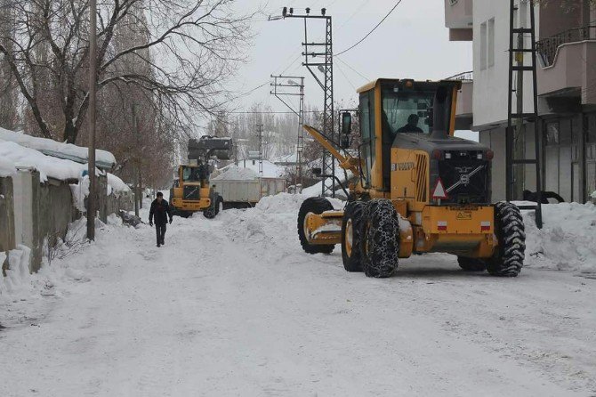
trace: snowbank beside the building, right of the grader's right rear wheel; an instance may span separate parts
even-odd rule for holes
[[[596,206],[544,204],[543,220],[538,230],[534,213],[524,213],[528,267],[596,273]]]

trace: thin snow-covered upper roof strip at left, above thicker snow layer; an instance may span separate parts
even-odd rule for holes
[[[15,142],[29,149],[39,150],[45,155],[75,161],[80,164],[88,162],[88,149],[71,143],[56,142],[51,139],[37,138],[23,133],[0,128],[0,142]],[[106,150],[95,150],[96,166],[110,169],[116,165],[116,158]]]

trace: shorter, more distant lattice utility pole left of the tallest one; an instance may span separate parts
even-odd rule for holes
[[[271,84],[273,91],[272,95],[275,95],[279,101],[286,105],[287,109],[290,109],[298,116],[298,142],[296,144],[296,173],[294,173],[294,193],[298,192],[298,183],[302,186],[302,152],[304,150],[304,131],[302,126],[304,125],[304,77],[292,77],[292,76],[271,76],[274,78],[274,82]],[[279,82],[282,80],[282,82]],[[286,80],[286,83],[283,83]],[[295,80],[300,80],[297,83]],[[290,88],[298,88],[298,93],[288,93],[286,90]],[[283,99],[284,96],[299,96],[299,108],[298,111],[294,109],[287,101]]]

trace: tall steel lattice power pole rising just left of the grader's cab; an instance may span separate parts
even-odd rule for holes
[[[336,142],[334,130],[334,64],[333,64],[333,32],[331,16],[326,15],[326,8],[321,9],[320,15],[310,14],[310,8],[306,8],[306,13],[299,15],[294,14],[294,8],[284,7],[281,17],[273,17],[270,20],[279,20],[286,18],[302,18],[304,20],[304,62],[302,66],[306,66],[312,77],[315,78],[318,85],[324,93],[323,104],[323,134],[332,142]],[[325,20],[325,41],[324,42],[309,42],[308,35],[308,20]],[[323,58],[323,61],[319,61]],[[318,77],[315,73],[316,68],[318,72],[323,74],[323,79]],[[328,151],[323,152],[323,174],[335,174],[335,161],[333,156]],[[334,178],[326,178],[323,180],[322,196],[335,197],[335,180]]]

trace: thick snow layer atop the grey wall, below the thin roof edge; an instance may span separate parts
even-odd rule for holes
[[[40,151],[25,148],[14,142],[0,141],[0,158],[3,158],[4,165],[12,163],[15,167],[35,168],[39,171],[41,182],[47,182],[48,178],[60,181],[78,179],[87,169],[84,164],[45,156]]]

